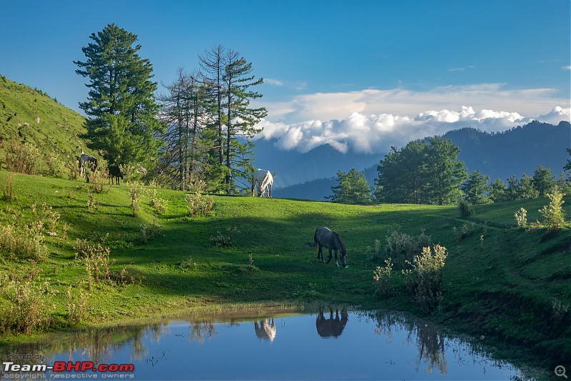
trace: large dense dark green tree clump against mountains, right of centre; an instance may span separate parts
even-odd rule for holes
[[[468,177],[460,150],[447,139],[435,136],[411,141],[380,161],[375,197],[389,203],[455,203],[460,185]]]

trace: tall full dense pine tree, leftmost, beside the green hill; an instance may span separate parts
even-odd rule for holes
[[[74,61],[76,73],[89,78],[88,99],[79,103],[88,116],[89,147],[109,163],[151,166],[162,144],[156,133],[163,130],[153,66],[138,56],[137,36],[115,24],[89,38],[93,42],[81,49],[86,61]]]

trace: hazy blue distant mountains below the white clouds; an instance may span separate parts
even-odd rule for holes
[[[533,121],[503,133],[487,133],[475,128],[462,128],[445,133],[460,148],[458,158],[469,172],[478,170],[490,181],[506,181],[512,175],[533,175],[537,166],[550,168],[559,175],[571,148],[571,124],[557,126]],[[272,141],[256,142],[256,166],[276,173],[273,195],[281,198],[324,200],[337,184],[337,171],[357,168],[373,186],[378,176],[377,165],[385,154],[364,155],[342,153],[325,144],[306,153],[279,151]]]

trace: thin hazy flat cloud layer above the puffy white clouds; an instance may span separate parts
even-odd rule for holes
[[[405,88],[365,89],[347,93],[313,93],[290,101],[264,103],[268,119],[283,123],[331,119],[342,120],[353,112],[363,115],[418,115],[427,110],[457,110],[470,105],[478,110],[510,110],[511,113],[540,115],[554,105],[568,104],[552,88],[505,89],[504,83],[471,86],[440,86],[425,91]],[[440,116],[443,117],[443,116]]]

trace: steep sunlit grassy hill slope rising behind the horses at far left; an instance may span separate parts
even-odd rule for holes
[[[43,153],[62,157],[86,151],[85,118],[41,90],[0,76],[0,140],[34,143]],[[0,145],[1,146],[1,145]]]

